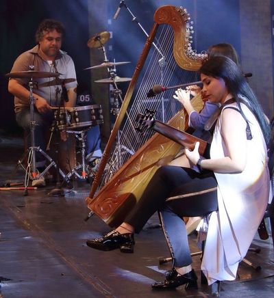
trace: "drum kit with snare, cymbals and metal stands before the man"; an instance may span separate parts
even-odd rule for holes
[[[97,33],[94,37],[88,40],[88,47],[90,48],[99,48],[103,50],[104,54],[104,62],[97,66],[91,66],[86,68],[85,70],[93,70],[98,68],[108,68],[108,72],[110,74],[110,78],[107,79],[100,79],[95,81],[96,83],[112,83],[114,86],[113,94],[116,94],[116,106],[118,106],[119,99],[122,102],[121,98],[121,90],[118,89],[116,83],[123,83],[127,81],[131,81],[131,78],[122,78],[116,75],[115,66],[120,66],[123,64],[129,64],[130,62],[109,62],[106,54],[105,54],[105,47],[103,44],[107,42],[110,38],[110,33],[108,31],[103,31],[101,33]],[[114,67],[114,69],[112,68]],[[34,66],[29,66],[30,70],[20,71],[20,72],[10,72],[5,74],[5,77],[9,77],[12,79],[29,79],[28,87],[29,87],[29,105],[30,105],[30,136],[31,136],[31,144],[25,153],[25,157],[18,161],[18,164],[23,167],[25,170],[25,191],[24,195],[27,195],[27,189],[29,185],[29,180],[38,180],[43,177],[51,167],[55,167],[58,172],[58,176],[61,175],[64,181],[69,183],[71,176],[76,176],[79,179],[86,179],[86,162],[85,162],[85,133],[88,131],[88,128],[91,126],[95,126],[97,124],[103,123],[103,112],[101,109],[101,105],[88,105],[84,107],[52,107],[55,109],[54,117],[55,120],[53,121],[51,127],[51,135],[53,130],[58,128],[58,131],[66,131],[67,133],[75,134],[75,137],[81,141],[81,151],[82,151],[82,164],[76,165],[69,174],[64,174],[64,172],[58,166],[58,162],[55,163],[49,155],[44,152],[40,147],[35,146],[34,140],[34,130],[37,123],[34,121],[34,94],[33,89],[34,86],[36,87],[48,87],[49,85],[62,85],[64,84],[64,80],[59,78],[60,73],[58,72],[42,72],[33,70]],[[36,83],[34,79],[42,79],[42,78],[55,78],[53,81],[47,83]],[[58,83],[60,81],[60,83]],[[75,81],[75,79],[65,79],[65,83],[70,83],[71,81]],[[116,108],[117,110],[117,108]],[[116,111],[117,113],[117,111]],[[51,139],[51,138],[50,138]],[[50,143],[50,141],[49,141]],[[49,147],[49,144],[48,146]],[[49,161],[49,165],[45,168],[45,170],[39,173],[36,170],[36,157],[35,152],[39,152],[40,154],[45,157]],[[23,160],[27,157],[27,165],[24,166]],[[82,171],[82,174],[79,175],[77,172],[79,170]],[[95,174],[95,173],[94,173]]]

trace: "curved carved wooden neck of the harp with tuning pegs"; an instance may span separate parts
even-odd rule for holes
[[[173,28],[173,55],[178,66],[185,70],[199,70],[208,55],[204,51],[196,53],[192,49],[192,23],[186,8],[164,5],[156,10],[154,21],[159,25],[168,24]]]

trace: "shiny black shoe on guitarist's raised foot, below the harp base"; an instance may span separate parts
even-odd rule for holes
[[[134,234],[120,234],[113,230],[105,236],[97,239],[90,239],[86,241],[89,247],[109,251],[120,248],[121,252],[132,253],[134,252]]]

